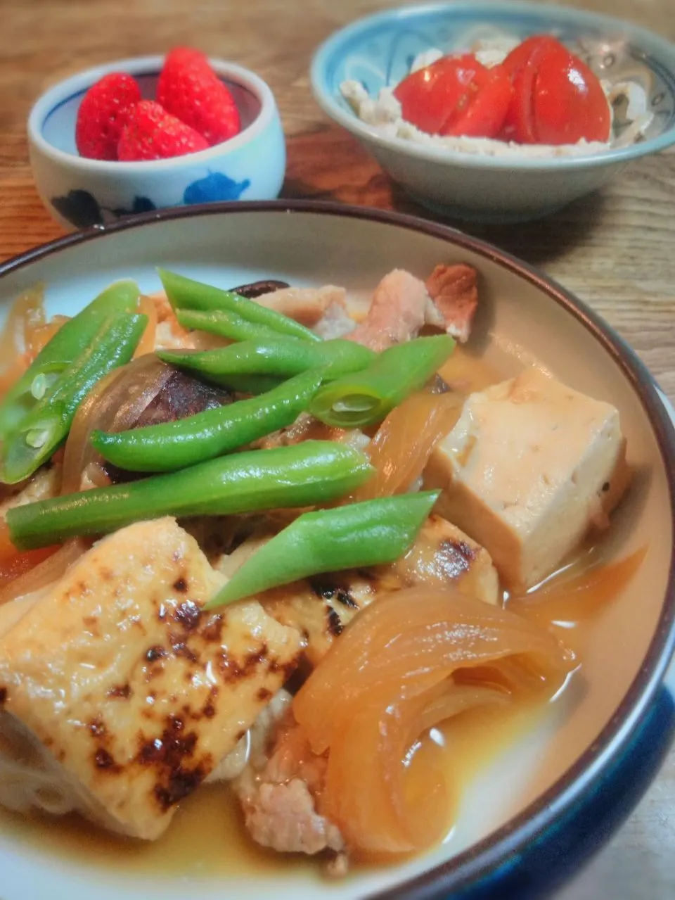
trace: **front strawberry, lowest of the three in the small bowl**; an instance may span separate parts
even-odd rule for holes
[[[139,159],[182,157],[205,150],[209,144],[200,134],[154,100],[137,103],[122,130],[117,157],[121,162]]]

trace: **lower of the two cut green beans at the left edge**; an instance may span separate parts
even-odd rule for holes
[[[67,437],[75,411],[93,385],[128,363],[147,327],[147,316],[105,320],[73,365],[58,375],[46,394],[4,441],[2,481],[16,484],[35,472]]]

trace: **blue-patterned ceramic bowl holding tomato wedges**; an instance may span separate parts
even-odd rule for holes
[[[475,40],[552,33],[573,46],[598,76],[635,80],[653,121],[644,139],[576,157],[483,156],[387,137],[352,112],[345,80],[373,98],[410,70],[423,50],[467,49]],[[539,3],[472,0],[410,6],[369,16],[337,31],[317,50],[311,84],[318,103],[351,131],[408,193],[433,211],[466,220],[517,221],[553,212],[600,188],[631,160],[675,143],[675,46],[607,16]]]

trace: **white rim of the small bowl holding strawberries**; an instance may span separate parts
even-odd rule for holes
[[[33,103],[31,112],[28,115],[27,129],[31,148],[38,150],[58,165],[91,174],[120,175],[120,172],[123,172],[127,175],[140,175],[156,171],[165,172],[169,169],[209,163],[209,160],[223,157],[238,148],[244,147],[245,144],[259,137],[277,114],[277,103],[274,99],[274,94],[271,92],[270,85],[263,81],[261,76],[237,63],[228,62],[226,59],[209,57],[211,67],[219,76],[223,76],[228,81],[244,87],[260,103],[260,110],[253,121],[244,130],[235,134],[234,138],[214,144],[213,147],[200,150],[198,153],[188,153],[182,157],[122,162],[120,160],[89,159],[75,153],[67,153],[66,150],[61,150],[51,144],[42,134],[42,128],[52,112],[63,103],[72,100],[73,97],[84,94],[84,91],[102,76],[110,75],[111,72],[125,72],[133,76],[158,75],[164,63],[164,58],[164,54],[158,54],[155,56],[116,59],[112,62],[103,63],[101,66],[84,69],[82,72],[68,76],[51,85]]]

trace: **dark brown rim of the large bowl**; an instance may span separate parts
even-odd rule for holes
[[[653,437],[661,455],[668,484],[671,518],[675,527],[675,426],[659,396],[656,383],[642,360],[626,341],[602,317],[573,293],[555,282],[535,266],[492,244],[466,235],[447,225],[419,219],[399,212],[375,210],[367,207],[324,201],[238,201],[201,203],[190,207],[157,210],[142,213],[129,219],[105,226],[57,238],[26,251],[0,264],[0,284],[6,275],[20,271],[70,247],[77,247],[92,240],[105,238],[119,231],[142,229],[153,223],[171,220],[189,220],[209,216],[235,215],[238,213],[277,213],[280,215],[321,214],[328,217],[369,220],[379,224],[413,230],[440,238],[454,247],[474,252],[511,274],[534,285],[564,311],[572,315],[596,339],[608,354],[635,392],[645,415],[650,421]],[[598,785],[611,767],[617,754],[625,750],[635,727],[642,721],[660,688],[671,657],[675,653],[675,545],[671,551],[668,579],[664,591],[662,609],[654,629],[652,640],[644,655],[644,661],[635,679],[619,702],[613,715],[603,725],[600,734],[577,761],[555,783],[539,795],[519,815],[513,816],[501,827],[466,851],[440,862],[413,878],[405,878],[394,887],[371,894],[370,900],[395,900],[400,896],[410,900],[431,900],[448,896],[449,890],[475,885],[500,869],[508,860],[525,851],[534,837],[569,811],[579,797]],[[403,893],[402,893],[403,892]]]

